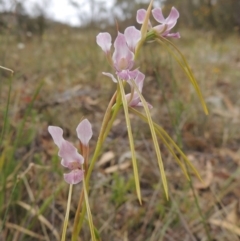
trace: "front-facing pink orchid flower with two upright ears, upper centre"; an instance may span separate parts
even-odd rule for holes
[[[118,32],[114,41],[114,52],[111,57],[111,35],[109,33],[99,33],[97,35],[97,44],[105,52],[120,79],[128,80],[131,78],[135,47],[140,39],[141,32],[133,26],[126,28],[124,34]],[[114,82],[117,82],[117,79],[111,73],[103,72],[103,74],[111,77]]]

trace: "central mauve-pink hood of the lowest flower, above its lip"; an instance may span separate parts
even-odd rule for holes
[[[69,165],[71,165],[70,163],[72,162],[84,163],[84,158],[77,152],[77,148],[66,140],[62,142],[58,155],[62,158],[61,164],[67,168],[70,168]]]

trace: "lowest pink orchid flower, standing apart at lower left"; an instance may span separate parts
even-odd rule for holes
[[[80,142],[87,146],[92,137],[92,126],[87,119],[81,121],[76,129]],[[58,146],[58,156],[62,158],[61,165],[70,169],[69,173],[64,174],[64,180],[69,184],[77,184],[82,181],[84,171],[82,164],[84,158],[77,151],[71,142],[63,138],[63,130],[58,126],[49,126],[48,132],[53,138],[54,143]]]

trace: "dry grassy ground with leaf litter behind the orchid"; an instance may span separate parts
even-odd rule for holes
[[[239,37],[219,39],[214,33],[188,31],[181,35],[175,43],[199,81],[209,116],[163,48],[145,46],[139,66],[147,76],[144,96],[154,106],[154,120],[182,146],[204,184],[193,178],[191,189],[162,147],[170,186],[170,201],[166,201],[149,129],[132,116],[143,195],[140,206],[124,116],[119,115],[103,149],[110,156],[97,165],[91,181],[90,204],[102,240],[239,240]],[[42,41],[25,41],[22,49],[14,36],[0,36],[1,65],[15,71],[0,155],[4,174],[0,179],[1,220],[10,201],[0,240],[58,240],[61,234],[68,186],[47,126],[61,126],[66,138],[75,141],[75,127],[85,116],[93,124],[94,149],[105,107],[115,90],[115,84],[101,74],[109,67],[95,36],[91,31],[63,29],[47,32]],[[4,113],[9,74],[0,71]],[[16,175],[21,178],[15,185]],[[81,185],[74,187],[69,233],[80,191]],[[79,240],[89,240],[89,235],[86,225]]]

